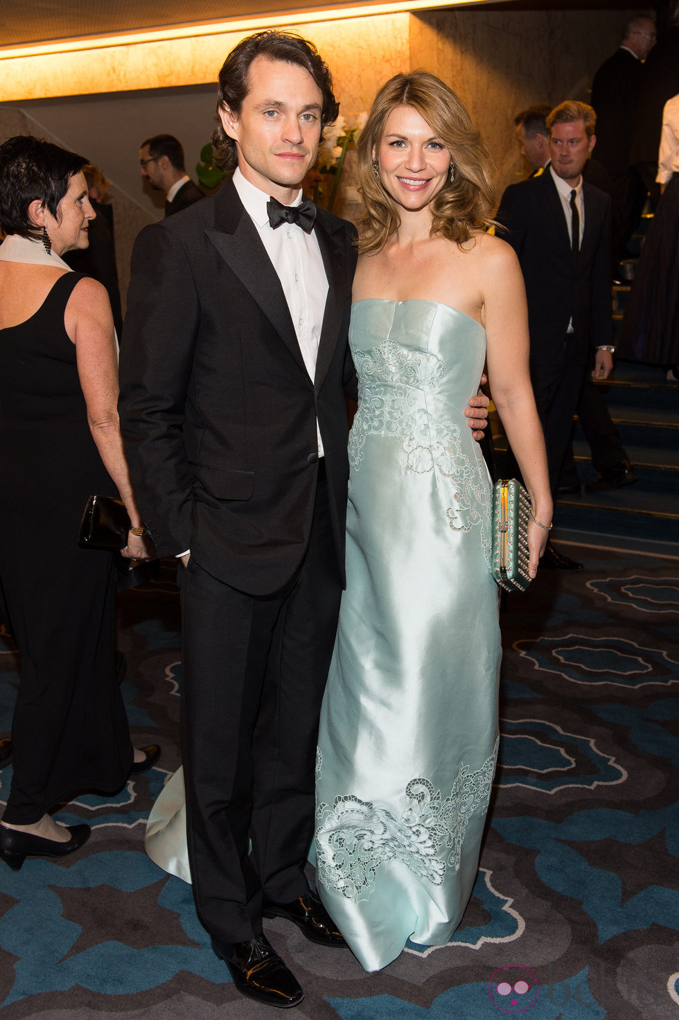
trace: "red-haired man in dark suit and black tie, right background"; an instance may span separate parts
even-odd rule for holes
[[[557,106],[547,117],[549,168],[510,185],[498,210],[526,284],[530,372],[553,496],[591,348],[595,378],[607,378],[613,367],[611,200],[582,181],[595,144],[595,119],[585,103]],[[541,562],[561,569],[581,566],[551,545]]]

